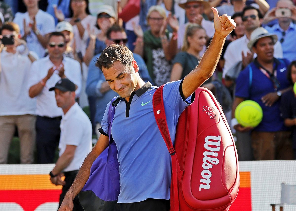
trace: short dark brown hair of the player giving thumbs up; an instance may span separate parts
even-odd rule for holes
[[[96,67],[109,69],[114,66],[114,62],[119,61],[126,66],[133,65],[133,52],[125,45],[110,45],[105,48],[97,59]]]

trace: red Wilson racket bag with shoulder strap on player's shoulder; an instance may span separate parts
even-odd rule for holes
[[[153,110],[172,158],[170,210],[228,210],[238,193],[239,166],[222,107],[209,90],[198,88],[178,119],[173,147],[162,89],[153,96]]]

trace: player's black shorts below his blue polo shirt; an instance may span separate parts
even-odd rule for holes
[[[169,211],[170,200],[146,199],[142,202],[117,203],[114,211]]]

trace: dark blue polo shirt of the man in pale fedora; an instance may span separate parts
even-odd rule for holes
[[[274,59],[274,67],[276,67],[276,78],[280,83],[278,91],[285,89],[290,86],[287,79],[287,66],[289,62],[287,59]],[[280,117],[280,100],[276,101],[271,107],[266,106],[261,97],[264,95],[275,92],[274,83],[271,79],[264,75],[256,61],[250,63],[252,70],[252,82],[250,86],[250,69],[247,66],[236,80],[235,96],[244,99],[254,100],[257,102],[263,110],[262,122],[254,128],[254,131],[265,131],[265,132],[276,132],[286,131],[287,128],[284,126],[284,121]]]

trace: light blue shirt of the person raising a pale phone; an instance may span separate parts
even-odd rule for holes
[[[283,57],[288,59],[290,62],[296,60],[296,25],[291,22],[286,31],[282,30],[278,23],[272,27],[266,26],[265,28],[269,33],[276,34],[279,41],[283,41],[281,43],[284,55]]]

